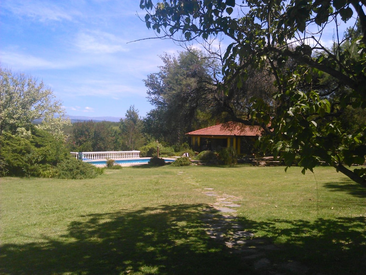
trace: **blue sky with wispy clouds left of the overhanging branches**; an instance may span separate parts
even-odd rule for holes
[[[143,79],[159,55],[183,49],[154,37],[138,0],[1,0],[0,65],[43,80],[68,115],[124,117],[153,108]]]

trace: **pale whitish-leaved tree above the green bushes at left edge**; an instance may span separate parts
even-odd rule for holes
[[[40,120],[38,128],[64,141],[63,127],[70,124],[62,103],[42,81],[0,67],[0,135],[4,130],[30,136],[25,127]]]

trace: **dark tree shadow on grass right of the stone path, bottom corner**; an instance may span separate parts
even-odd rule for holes
[[[279,247],[266,253],[277,268],[297,261],[307,265],[307,274],[366,274],[366,217],[242,223],[265,231]]]

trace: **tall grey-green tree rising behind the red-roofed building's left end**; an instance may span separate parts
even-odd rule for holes
[[[205,115],[217,99],[217,60],[198,49],[162,55],[164,65],[144,80],[148,100],[155,109],[144,119],[144,131],[160,141],[180,144],[185,133],[208,126]]]

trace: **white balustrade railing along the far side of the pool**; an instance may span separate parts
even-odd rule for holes
[[[82,159],[126,159],[126,158],[139,158],[140,151],[105,151],[105,152],[70,152],[72,157],[79,159],[79,153],[81,153]]]

